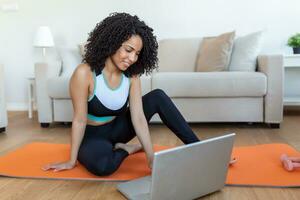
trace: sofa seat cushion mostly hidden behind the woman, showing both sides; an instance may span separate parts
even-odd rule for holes
[[[140,77],[142,84],[142,95],[151,91],[151,77],[142,75]],[[70,77],[55,77],[47,80],[48,95],[54,99],[69,99],[69,81]]]

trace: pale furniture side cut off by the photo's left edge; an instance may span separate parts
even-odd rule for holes
[[[7,112],[4,91],[4,67],[0,64],[0,133],[4,132],[7,126]]]

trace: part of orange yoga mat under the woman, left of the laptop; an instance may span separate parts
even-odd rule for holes
[[[155,146],[155,150],[166,148]],[[110,176],[95,176],[80,163],[71,170],[60,172],[41,169],[45,164],[68,160],[69,152],[70,145],[68,144],[31,143],[0,157],[0,175],[23,178],[125,181],[148,176],[151,173],[147,167],[144,152],[138,152],[127,157],[120,168]]]

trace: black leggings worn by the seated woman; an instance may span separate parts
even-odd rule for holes
[[[147,122],[158,113],[161,120],[185,144],[199,141],[182,117],[174,103],[160,89],[153,90],[142,98]],[[113,121],[100,125],[87,125],[78,152],[78,161],[91,173],[98,176],[115,172],[128,156],[123,149],[114,150],[116,143],[127,143],[136,136],[129,109]]]

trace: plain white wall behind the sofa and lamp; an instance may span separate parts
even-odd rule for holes
[[[41,59],[32,47],[38,26],[51,28],[56,46],[76,46],[109,13],[137,14],[158,39],[217,35],[236,30],[244,35],[265,31],[263,52],[290,53],[287,38],[300,32],[299,0],[0,0],[16,2],[16,12],[0,11],[0,62],[5,65],[9,110],[27,109],[26,77]],[[55,49],[48,56],[56,56]]]

